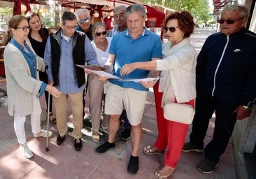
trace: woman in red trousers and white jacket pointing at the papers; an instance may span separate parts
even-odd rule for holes
[[[168,42],[162,46],[163,59],[125,64],[120,72],[122,76],[125,76],[135,69],[145,69],[162,71],[161,75],[165,76],[156,84],[141,82],[145,87],[154,85],[158,128],[155,145],[145,147],[143,152],[148,155],[164,155],[166,152],[164,166],[155,172],[157,178],[169,178],[175,171],[189,126],[166,120],[163,110],[164,102],[168,100],[194,107],[197,52],[190,44],[189,39],[190,34],[194,31],[194,25],[193,17],[189,12],[171,13],[164,21],[164,33]],[[168,85],[171,88],[171,93],[167,95],[164,89]],[[168,98],[166,99],[164,96],[168,96]]]

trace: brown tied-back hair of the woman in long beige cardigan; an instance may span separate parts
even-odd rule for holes
[[[10,18],[8,22],[8,30],[3,34],[3,43],[5,45],[7,45],[7,43],[10,41],[10,38],[13,36],[11,29],[17,29],[22,20],[27,20],[27,17],[24,17],[23,15],[14,15]]]

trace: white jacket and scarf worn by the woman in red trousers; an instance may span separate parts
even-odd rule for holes
[[[171,101],[176,97],[178,103],[190,101],[196,97],[195,89],[195,67],[197,64],[197,51],[190,44],[190,39],[185,38],[172,48],[171,42],[162,46],[163,59],[157,60],[157,71],[162,71],[159,92],[164,92],[166,85],[171,85],[173,95],[169,96]],[[168,76],[171,84],[168,83]]]

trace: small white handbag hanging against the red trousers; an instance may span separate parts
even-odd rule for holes
[[[167,101],[164,104],[164,118],[183,124],[191,124],[194,118],[194,108],[185,103]]]

